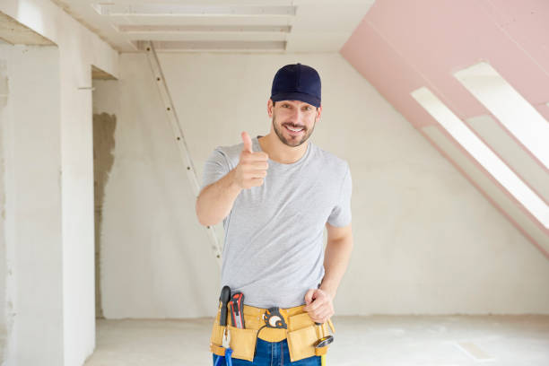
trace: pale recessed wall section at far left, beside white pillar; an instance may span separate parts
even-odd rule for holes
[[[4,362],[62,365],[59,51],[2,46],[0,54],[8,75],[0,126],[7,262]]]

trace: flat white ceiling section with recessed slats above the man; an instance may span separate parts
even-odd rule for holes
[[[54,0],[120,52],[336,52],[375,0]]]

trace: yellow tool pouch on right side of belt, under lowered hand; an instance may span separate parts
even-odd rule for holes
[[[327,335],[327,323],[316,326],[308,313],[301,313],[288,318],[288,349],[290,361],[296,362],[312,356],[327,353],[327,346],[315,348],[314,344]]]

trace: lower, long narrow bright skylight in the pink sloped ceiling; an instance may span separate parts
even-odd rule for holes
[[[545,228],[549,228],[549,206],[527,187],[526,184],[501,159],[492,152],[457,116],[429,89],[423,87],[411,93],[427,112],[443,126],[476,161],[478,161],[501,186],[505,187],[518,202],[526,207]]]

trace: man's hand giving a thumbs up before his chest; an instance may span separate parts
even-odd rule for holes
[[[235,179],[239,187],[248,189],[263,185],[269,165],[269,156],[263,152],[254,153],[248,132],[242,132],[244,146],[240,153],[239,165],[235,168]]]

